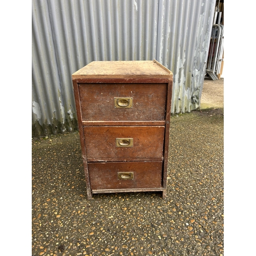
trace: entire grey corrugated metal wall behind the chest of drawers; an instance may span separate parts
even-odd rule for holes
[[[157,59],[172,113],[200,105],[216,1],[32,0],[32,135],[77,128],[71,75],[94,60]]]

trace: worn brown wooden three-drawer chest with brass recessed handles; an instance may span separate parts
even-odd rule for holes
[[[173,74],[158,61],[93,61],[72,75],[88,199],[166,197]]]

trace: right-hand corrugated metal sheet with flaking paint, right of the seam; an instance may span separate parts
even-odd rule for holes
[[[200,106],[215,3],[160,0],[157,60],[174,73],[172,113]]]

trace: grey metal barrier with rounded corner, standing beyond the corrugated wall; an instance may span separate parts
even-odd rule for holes
[[[207,58],[206,74],[212,79],[217,80],[223,61],[223,41],[224,26],[220,24],[212,25],[210,46]]]

